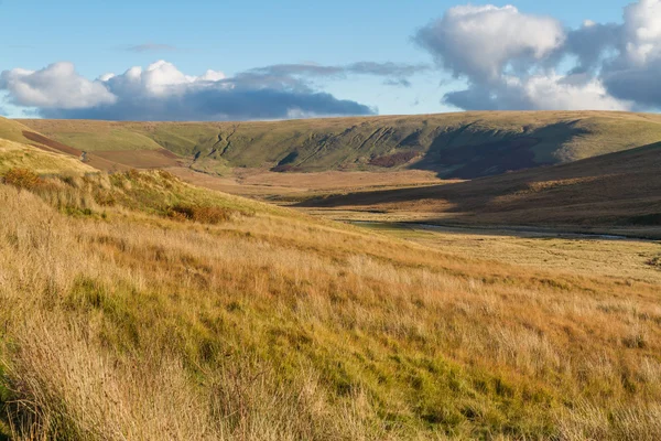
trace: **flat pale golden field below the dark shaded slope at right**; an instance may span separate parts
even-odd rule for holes
[[[661,256],[661,243],[657,240],[405,223],[362,222],[357,225],[457,257],[492,259],[565,275],[627,278],[661,284],[657,261]]]

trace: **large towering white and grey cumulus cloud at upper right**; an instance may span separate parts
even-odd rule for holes
[[[629,4],[621,23],[577,29],[511,6],[462,6],[414,39],[465,80],[444,97],[463,109],[661,108],[661,0]]]

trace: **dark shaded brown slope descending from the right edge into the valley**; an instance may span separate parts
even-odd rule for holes
[[[302,203],[437,213],[475,224],[661,225],[661,143],[456,184],[335,195]]]

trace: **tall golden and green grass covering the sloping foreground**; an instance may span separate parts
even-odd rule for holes
[[[657,284],[465,259],[158,172],[0,185],[0,207],[14,439],[661,437]]]

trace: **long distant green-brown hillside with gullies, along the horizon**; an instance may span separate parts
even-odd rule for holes
[[[661,117],[596,111],[463,112],[274,122],[105,122],[24,120],[87,150],[164,147],[194,168],[299,171],[383,170],[383,164],[475,178],[568,162],[661,138]],[[381,165],[375,165],[381,164]]]

